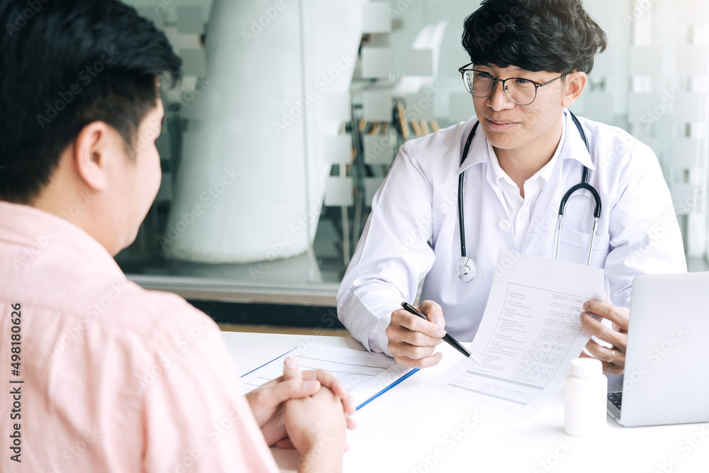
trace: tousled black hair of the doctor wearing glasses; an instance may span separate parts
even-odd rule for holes
[[[476,65],[588,74],[607,38],[581,0],[484,0],[465,18],[462,45]]]

